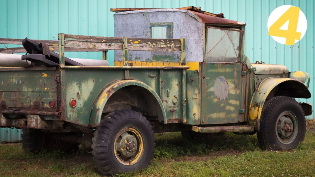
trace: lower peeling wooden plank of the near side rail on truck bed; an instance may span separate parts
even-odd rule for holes
[[[65,48],[100,49],[100,50],[123,50],[120,43],[90,43],[78,41],[65,41]],[[156,44],[129,44],[128,50],[136,51],[180,51],[180,45],[156,45]],[[66,50],[65,50],[66,51]]]

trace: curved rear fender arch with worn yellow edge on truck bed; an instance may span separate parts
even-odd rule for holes
[[[102,111],[104,109],[104,106],[107,102],[107,100],[112,96],[112,94],[114,94],[117,90],[119,90],[120,88],[126,87],[126,86],[140,86],[142,88],[145,88],[146,90],[148,90],[149,92],[151,92],[151,94],[156,98],[157,102],[160,105],[160,108],[162,110],[163,113],[163,121],[164,123],[166,123],[166,113],[164,110],[164,106],[163,103],[160,99],[160,97],[157,95],[157,93],[147,84],[137,81],[137,80],[119,80],[116,81],[106,87],[104,87],[101,91],[100,94],[98,94],[97,98],[95,99],[93,106],[92,106],[92,110],[91,110],[91,115],[90,115],[90,127],[96,127],[100,124],[100,120],[101,120],[101,116],[102,116]]]

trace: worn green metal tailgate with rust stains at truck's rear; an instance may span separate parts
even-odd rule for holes
[[[57,72],[55,67],[0,68],[0,110],[55,111]]]

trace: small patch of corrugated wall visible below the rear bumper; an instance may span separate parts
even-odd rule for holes
[[[0,143],[21,141],[21,129],[0,128]]]

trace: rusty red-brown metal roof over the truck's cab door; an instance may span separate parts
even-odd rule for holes
[[[214,17],[211,15],[195,12],[188,10],[188,14],[192,17],[196,18],[200,23],[209,23],[209,24],[230,24],[230,25],[240,25],[245,26],[246,23],[234,21],[234,20],[228,20],[220,17]]]

